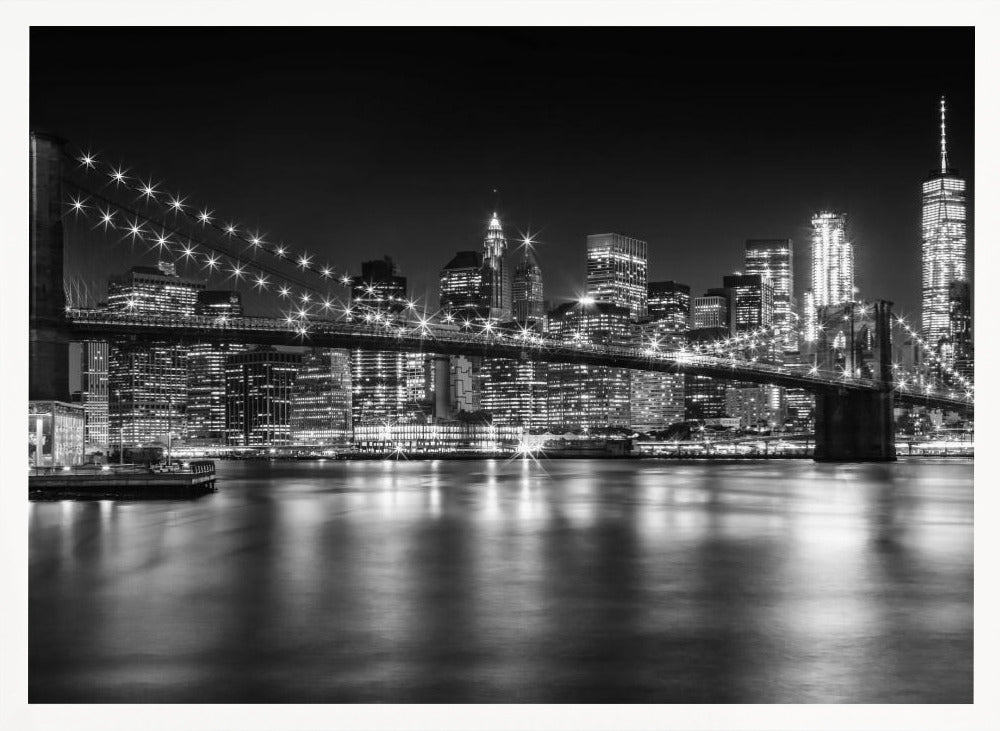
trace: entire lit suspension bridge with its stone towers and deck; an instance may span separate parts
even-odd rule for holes
[[[912,393],[894,380],[891,363],[890,333],[892,316],[889,303],[879,302],[864,332],[868,342],[860,346],[859,339],[843,354],[831,345],[818,353],[816,366],[809,371],[795,371],[781,366],[751,362],[733,356],[719,357],[701,352],[660,351],[655,348],[625,345],[597,345],[586,342],[554,340],[533,332],[510,332],[490,328],[471,332],[432,318],[416,322],[398,318],[376,317],[376,322],[352,320],[345,315],[340,320],[324,319],[317,313],[308,317],[289,316],[286,319],[239,317],[230,319],[208,317],[164,318],[131,315],[127,312],[107,312],[67,308],[63,292],[64,234],[62,216],[62,185],[65,177],[62,144],[50,138],[32,137],[31,163],[31,364],[30,394],[32,399],[68,400],[67,348],[70,340],[156,340],[170,342],[241,342],[268,345],[310,345],[367,350],[404,350],[435,354],[465,354],[490,357],[541,360],[557,363],[584,363],[637,370],[659,371],[710,376],[726,380],[772,384],[802,388],[816,394],[816,457],[817,459],[853,460],[895,458],[893,447],[893,404],[924,404],[935,408],[971,412],[971,398],[945,393]],[[89,164],[89,158],[87,158]],[[112,178],[116,180],[116,175]],[[143,189],[147,199],[153,199],[152,189]],[[107,192],[93,193],[95,198],[113,205]],[[172,203],[182,211],[180,201]],[[142,234],[145,223],[160,228],[154,241],[170,252],[169,224],[165,217],[147,214],[141,218],[131,204],[121,204],[122,210],[133,215],[129,226],[122,226],[127,235]],[[74,210],[79,210],[79,199]],[[104,224],[110,220],[110,208],[104,213]],[[199,215],[202,224],[210,218]],[[173,230],[173,229],[171,229]],[[231,234],[232,232],[229,231]],[[221,252],[235,263],[235,277],[241,276],[245,265],[239,254],[224,244],[186,234],[188,246],[183,255],[191,256],[195,246]],[[262,244],[258,237],[244,239],[256,250]],[[175,252],[180,258],[180,252]],[[269,252],[292,260],[284,247]],[[215,261],[215,254],[210,254]],[[245,259],[243,260],[245,261]],[[247,265],[248,266],[248,265]],[[258,282],[267,276],[281,276],[277,270],[254,261],[260,272]],[[301,257],[298,266],[303,271],[329,278],[329,268],[312,266]],[[211,267],[209,267],[211,272]],[[288,278],[304,292],[315,292],[298,276]],[[303,297],[305,300],[306,297]],[[329,307],[328,307],[329,309]],[[853,317],[853,310],[852,310]],[[846,317],[845,317],[846,319]],[[866,355],[865,355],[866,354]],[[838,361],[840,358],[840,361]],[[867,361],[866,361],[867,358]],[[848,367],[849,366],[849,367]],[[864,377],[862,377],[864,376]]]

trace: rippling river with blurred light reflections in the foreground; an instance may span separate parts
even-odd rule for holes
[[[30,504],[32,702],[972,701],[971,460],[217,467]]]

